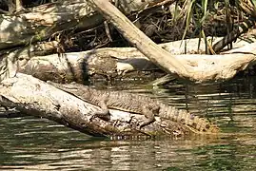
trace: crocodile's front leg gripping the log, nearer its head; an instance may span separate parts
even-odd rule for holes
[[[107,99],[104,99],[104,100],[99,102],[99,105],[101,107],[101,111],[93,112],[92,117],[90,118],[90,120],[95,118],[95,117],[100,118],[104,121],[109,121],[110,120],[110,113],[109,113],[106,101],[107,101]]]

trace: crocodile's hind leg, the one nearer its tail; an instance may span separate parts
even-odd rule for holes
[[[159,109],[159,106],[148,107],[147,105],[143,105],[142,114],[146,117],[146,121],[140,124],[140,128],[155,122],[155,116],[159,113]]]

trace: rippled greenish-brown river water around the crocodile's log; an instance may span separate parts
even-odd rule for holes
[[[255,81],[254,81],[255,80]],[[46,119],[0,120],[3,170],[256,170],[256,79],[152,89],[147,93],[217,123],[218,139],[123,140],[91,138]]]

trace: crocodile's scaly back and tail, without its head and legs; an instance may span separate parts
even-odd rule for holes
[[[109,108],[124,110],[132,113],[142,113],[142,105],[153,108],[159,106],[159,113],[157,116],[168,119],[177,123],[183,123],[198,132],[217,133],[219,128],[213,123],[209,123],[207,119],[194,116],[184,109],[178,109],[174,106],[165,104],[156,99],[152,99],[145,95],[132,94],[123,91],[106,91],[91,89],[92,97],[105,96]]]

